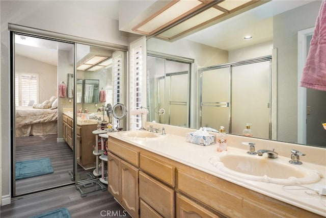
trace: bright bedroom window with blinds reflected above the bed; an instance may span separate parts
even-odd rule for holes
[[[29,72],[15,74],[15,105],[39,103],[39,75]]]

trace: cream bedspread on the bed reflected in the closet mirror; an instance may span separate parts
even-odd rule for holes
[[[16,107],[16,128],[25,125],[57,122],[58,109],[36,109],[33,107]]]

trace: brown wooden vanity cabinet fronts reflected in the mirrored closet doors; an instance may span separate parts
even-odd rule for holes
[[[97,125],[77,125],[77,163],[85,169],[94,168],[96,157],[93,155],[95,135],[92,133]],[[68,146],[73,149],[73,119],[63,114],[63,138]]]

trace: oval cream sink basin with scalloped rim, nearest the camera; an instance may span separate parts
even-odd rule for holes
[[[310,171],[302,165],[292,165],[279,158],[225,153],[210,158],[210,163],[238,178],[275,184],[310,184],[321,178],[316,171]]]

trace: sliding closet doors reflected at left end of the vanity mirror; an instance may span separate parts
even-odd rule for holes
[[[189,87],[193,60],[166,58],[148,51],[147,120],[189,127]]]

